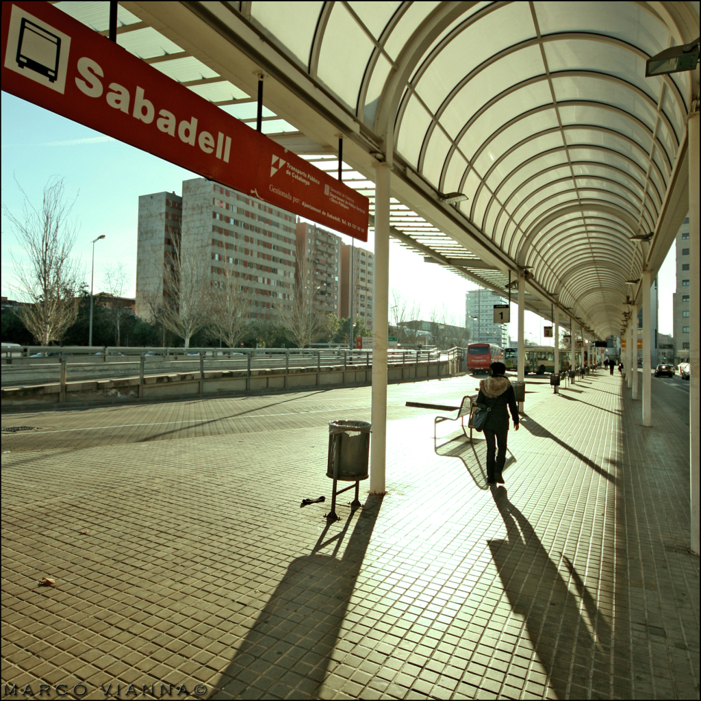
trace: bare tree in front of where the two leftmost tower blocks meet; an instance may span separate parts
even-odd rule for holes
[[[185,341],[210,322],[212,287],[196,252],[184,256],[176,250],[163,271],[163,301],[157,318]]]

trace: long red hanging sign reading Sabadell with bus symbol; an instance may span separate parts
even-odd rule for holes
[[[369,200],[48,2],[2,4],[2,89],[367,241]]]

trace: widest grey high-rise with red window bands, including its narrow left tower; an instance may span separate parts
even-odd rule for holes
[[[290,212],[205,178],[184,181],[182,198],[139,197],[137,315],[150,318],[151,304],[162,299],[163,264],[179,247],[183,260],[200,261],[210,285],[225,267],[233,271],[245,287],[250,318],[276,318],[292,299],[294,222]]]

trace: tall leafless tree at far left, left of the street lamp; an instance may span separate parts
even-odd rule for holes
[[[61,340],[78,315],[84,271],[71,257],[78,233],[77,224],[69,220],[75,200],[66,202],[63,179],[56,176],[44,186],[39,210],[18,182],[17,186],[24,197],[21,218],[6,205],[3,211],[27,259],[18,261],[11,253],[17,279],[13,287],[22,301],[29,302],[19,308],[18,315],[34,340],[48,346]]]

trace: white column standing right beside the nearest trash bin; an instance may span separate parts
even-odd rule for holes
[[[390,166],[375,167],[375,287],[372,322],[372,440],[370,494],[385,493],[387,442],[387,323],[390,259]]]

